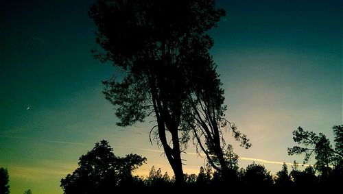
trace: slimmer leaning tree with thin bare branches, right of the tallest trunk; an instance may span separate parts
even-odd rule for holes
[[[224,118],[224,90],[211,56],[205,52],[201,56],[196,53],[189,53],[188,56],[196,56],[196,64],[202,63],[203,69],[196,69],[197,72],[190,76],[196,84],[193,84],[192,93],[185,101],[181,125],[184,129],[191,129],[193,143],[200,147],[197,151],[203,151],[211,167],[225,178],[228,173],[237,171],[238,156],[233,152],[232,145],[226,144],[223,129],[231,130],[241,146],[248,148],[251,144],[246,135]]]

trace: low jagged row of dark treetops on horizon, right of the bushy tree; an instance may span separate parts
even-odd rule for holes
[[[236,172],[235,178],[224,180],[217,171],[206,171],[200,167],[200,172],[196,174],[185,174],[185,186],[226,186],[235,184],[235,186],[249,187],[324,187],[333,186],[342,183],[342,167],[333,167],[328,175],[322,175],[316,172],[313,166],[307,166],[300,170],[298,163],[294,162],[292,170],[289,171],[287,165],[283,164],[281,171],[275,175],[265,169],[264,165],[252,162],[248,167],[241,168]],[[137,177],[138,178],[138,177]],[[146,178],[138,178],[139,186],[174,186],[174,177],[169,177],[168,173],[164,174],[161,169],[155,167],[150,169]],[[137,184],[133,184],[137,185]]]

